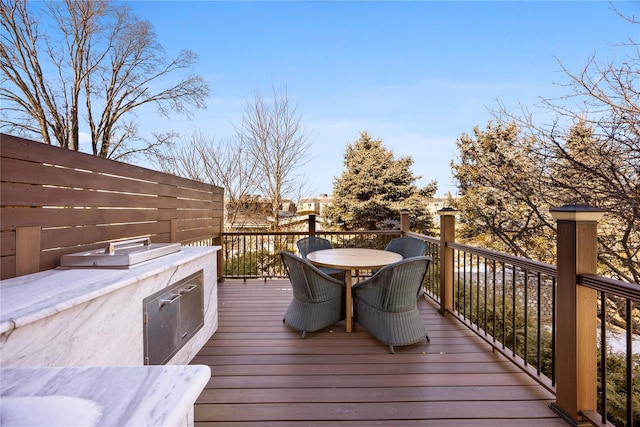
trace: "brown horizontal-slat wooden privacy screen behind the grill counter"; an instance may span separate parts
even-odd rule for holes
[[[5,134],[0,154],[2,279],[113,240],[221,241],[220,187]]]

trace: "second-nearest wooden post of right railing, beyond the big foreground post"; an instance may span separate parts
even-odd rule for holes
[[[453,208],[443,208],[440,215],[440,314],[453,310],[453,249],[447,242],[456,240],[456,214]]]

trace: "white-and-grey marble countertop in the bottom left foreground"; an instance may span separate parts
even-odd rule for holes
[[[203,365],[5,368],[3,426],[180,426],[211,378]]]

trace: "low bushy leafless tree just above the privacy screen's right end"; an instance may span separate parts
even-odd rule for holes
[[[163,172],[183,176],[224,188],[226,216],[237,223],[243,202],[256,191],[257,166],[246,149],[235,138],[216,141],[198,130],[179,138],[176,135],[157,136],[171,139],[150,157]]]

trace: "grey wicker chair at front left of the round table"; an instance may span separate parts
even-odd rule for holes
[[[291,252],[280,252],[293,289],[283,322],[302,331],[314,332],[345,318],[344,282],[314,267]]]

